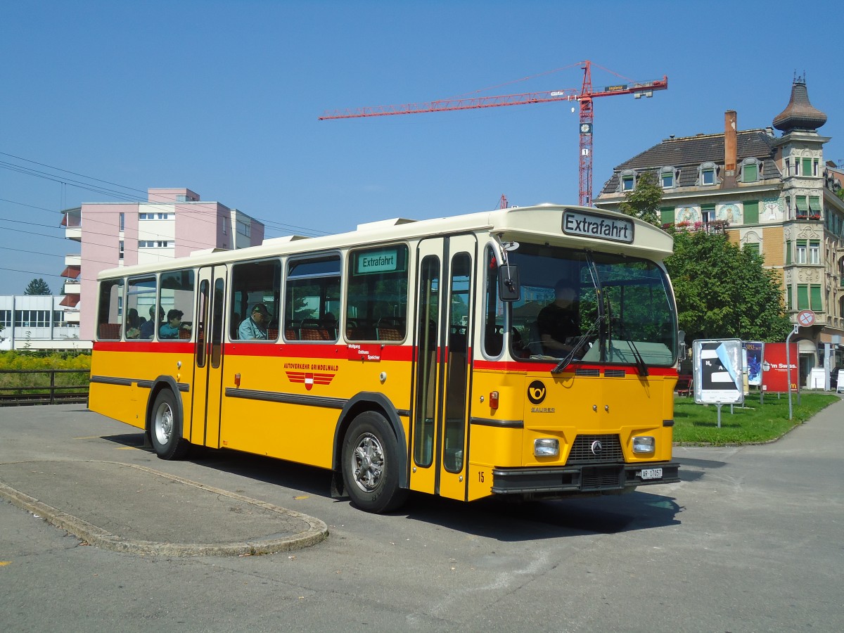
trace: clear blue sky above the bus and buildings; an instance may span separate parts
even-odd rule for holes
[[[634,80],[668,75],[652,99],[595,101],[595,190],[671,134],[722,132],[726,110],[739,129],[770,126],[795,71],[829,116],[825,158],[844,160],[844,4],[814,7],[2,3],[0,294],[36,277],[58,292],[63,257],[78,253],[58,227],[62,208],[143,198],[148,187],[189,187],[261,219],[268,236],[468,213],[501,194],[576,203],[578,118],[566,104],[317,116],[490,87],[476,96],[577,89],[584,59]],[[618,80],[593,69],[596,86]]]

